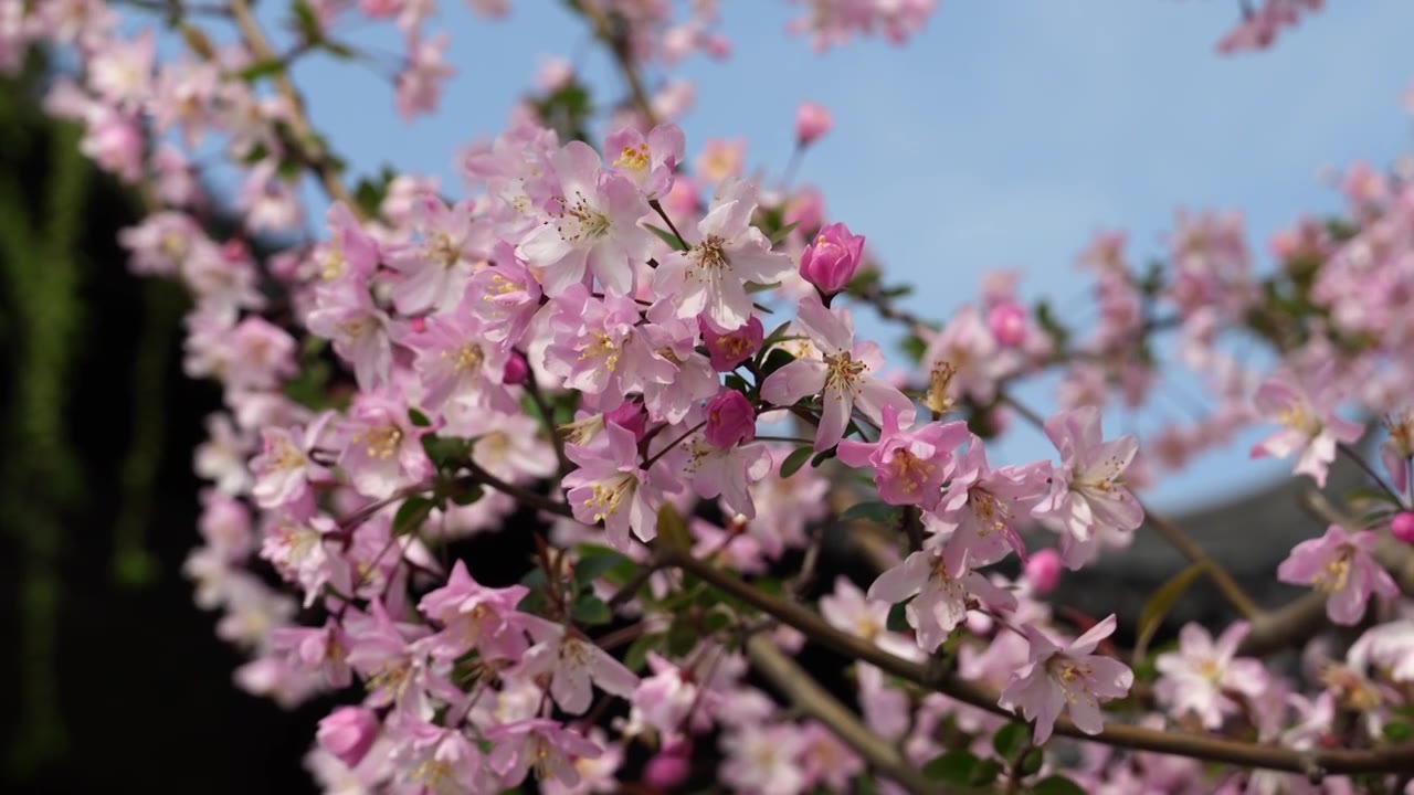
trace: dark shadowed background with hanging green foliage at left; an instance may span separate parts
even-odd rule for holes
[[[308,791],[321,704],[236,690],[180,574],[219,403],[181,371],[185,297],[127,272],[139,198],[40,75],[0,82],[0,791]]]

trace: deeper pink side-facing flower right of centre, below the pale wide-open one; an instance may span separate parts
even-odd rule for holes
[[[874,487],[889,505],[932,509],[942,499],[942,485],[953,474],[953,450],[971,439],[967,423],[928,423],[899,430],[898,410],[884,407],[878,441],[840,441],[846,465],[874,470]]]

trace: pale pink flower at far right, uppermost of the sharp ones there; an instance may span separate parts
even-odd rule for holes
[[[1365,429],[1335,416],[1331,400],[1311,396],[1301,386],[1273,376],[1257,388],[1253,403],[1263,416],[1285,426],[1251,448],[1253,458],[1297,455],[1297,474],[1311,475],[1325,488],[1326,471],[1338,444],[1360,439]]]

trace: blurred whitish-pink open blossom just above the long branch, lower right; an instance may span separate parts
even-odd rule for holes
[[[1155,659],[1159,680],[1155,695],[1175,714],[1193,714],[1205,729],[1217,730],[1223,719],[1240,712],[1227,693],[1257,697],[1267,687],[1261,661],[1237,658],[1237,645],[1247,637],[1244,621],[1230,625],[1217,642],[1198,624],[1185,624],[1178,651]]]

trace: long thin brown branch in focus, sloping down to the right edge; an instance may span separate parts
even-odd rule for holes
[[[665,547],[663,557],[667,564],[683,569],[728,596],[732,596],[761,610],[762,613],[790,624],[810,639],[830,646],[840,654],[868,662],[901,679],[937,690],[939,693],[974,707],[1011,719],[1017,717],[1011,712],[997,706],[995,693],[971,682],[953,679],[939,666],[925,666],[895,656],[870,641],[857,635],[841,632],[810,610],[765,594],[734,574],[697,560],[686,550]],[[1063,734],[1066,737],[1103,743],[1106,745],[1116,745],[1120,748],[1155,751],[1161,754],[1227,762],[1241,767],[1281,770],[1297,774],[1309,774],[1314,770],[1319,770],[1325,774],[1394,772],[1414,767],[1414,744],[1366,750],[1294,751],[1280,745],[1220,740],[1198,734],[1159,731],[1126,724],[1110,724],[1106,726],[1099,734],[1086,734],[1068,719],[1058,720],[1055,731],[1056,734]]]

